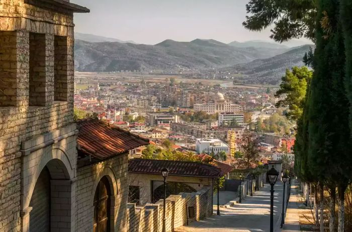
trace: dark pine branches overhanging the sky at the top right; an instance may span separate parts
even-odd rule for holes
[[[272,39],[278,42],[306,37],[315,40],[316,0],[250,0],[243,26],[262,31],[272,25]]]

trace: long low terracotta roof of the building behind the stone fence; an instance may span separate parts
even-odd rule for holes
[[[221,170],[215,166],[190,161],[131,159],[128,172],[161,175],[167,168],[171,176],[218,177]]]

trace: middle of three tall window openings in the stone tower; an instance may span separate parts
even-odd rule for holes
[[[45,34],[29,33],[29,105],[46,102]]]

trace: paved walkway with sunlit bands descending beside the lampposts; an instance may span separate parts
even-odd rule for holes
[[[274,228],[280,226],[279,214],[282,209],[282,183],[274,186]],[[221,215],[213,215],[201,221],[192,222],[175,231],[182,232],[228,232],[228,231],[269,231],[270,230],[270,185],[267,184],[253,196],[247,196],[241,204],[220,207]]]

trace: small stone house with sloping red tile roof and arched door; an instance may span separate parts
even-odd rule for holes
[[[78,229],[91,231],[105,221],[108,229],[102,231],[123,231],[127,226],[128,154],[149,140],[98,119],[79,121],[77,129]],[[94,215],[98,214],[104,218],[97,220]]]

